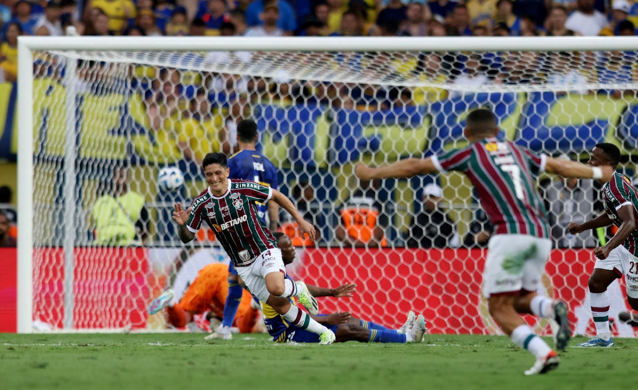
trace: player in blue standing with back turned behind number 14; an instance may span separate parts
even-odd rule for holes
[[[228,178],[251,180],[262,185],[267,185],[272,189],[278,189],[279,179],[277,177],[277,169],[274,164],[262,154],[257,152],[257,124],[250,119],[242,120],[237,124],[237,143],[239,152],[235,153],[228,159],[228,169],[230,175]],[[274,201],[269,201],[267,205],[257,204],[257,213],[266,224],[266,215],[268,215],[268,228],[270,231],[277,230],[277,222],[279,219],[279,205]],[[221,326],[212,333],[211,338],[221,338],[230,340],[232,334],[230,327],[232,326],[237,308],[242,297],[242,286],[239,285],[239,276],[231,262],[228,266],[228,296],[224,305],[224,316]]]

